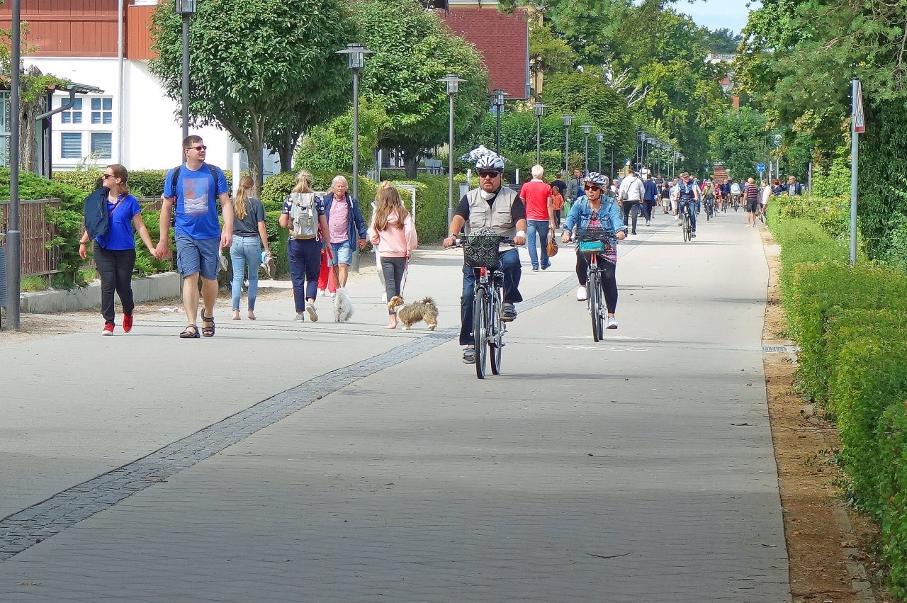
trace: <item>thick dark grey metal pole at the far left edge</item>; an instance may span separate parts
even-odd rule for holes
[[[13,48],[10,74],[9,230],[6,231],[6,328],[19,330],[22,233],[19,231],[19,62],[22,50],[21,0],[13,0]]]

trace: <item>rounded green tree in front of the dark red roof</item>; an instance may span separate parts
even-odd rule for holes
[[[375,51],[363,71],[362,94],[385,107],[379,134],[383,148],[404,158],[406,177],[447,139],[447,73],[465,80],[454,97],[453,127],[468,136],[488,111],[488,71],[473,45],[450,33],[439,17],[416,0],[362,0],[354,5],[366,47]]]

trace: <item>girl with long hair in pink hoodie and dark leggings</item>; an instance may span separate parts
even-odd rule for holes
[[[387,301],[390,302],[394,297],[403,295],[400,286],[406,264],[419,239],[415,234],[413,217],[406,211],[400,193],[393,184],[386,180],[381,183],[375,204],[372,223],[368,227],[368,238],[378,248],[381,269],[385,273]],[[395,311],[388,308],[387,313],[390,316],[387,328],[396,328]]]

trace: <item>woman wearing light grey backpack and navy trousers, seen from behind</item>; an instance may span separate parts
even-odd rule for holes
[[[321,271],[321,247],[327,239],[327,219],[324,202],[312,190],[312,174],[308,170],[299,170],[296,175],[296,185],[280,213],[280,228],[289,230],[287,256],[296,302],[293,320],[304,321],[308,314],[308,319],[315,322],[318,319],[315,297]]]

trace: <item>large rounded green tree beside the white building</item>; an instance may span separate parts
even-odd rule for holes
[[[249,171],[260,187],[261,151],[288,127],[288,115],[317,116],[300,105],[349,89],[346,59],[336,51],[354,30],[336,0],[200,2],[190,24],[192,122],[229,131],[249,154]],[[181,18],[172,2],[158,5],[151,35],[157,53],[151,72],[179,101]],[[293,125],[298,130],[299,122]]]

